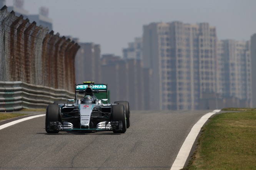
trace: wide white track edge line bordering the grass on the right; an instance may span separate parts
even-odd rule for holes
[[[183,145],[180,148],[180,151],[173,162],[173,165],[171,166],[171,170],[180,170],[184,167],[186,160],[188,159],[188,156],[190,154],[190,150],[194,144],[194,141],[196,140],[196,137],[198,136],[201,127],[203,127],[204,123],[215,113],[218,113],[221,110],[214,110],[213,112],[206,113],[204,116],[202,116],[196,124],[192,127],[190,133],[186,137]]]

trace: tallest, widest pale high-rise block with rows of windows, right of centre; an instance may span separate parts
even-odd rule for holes
[[[179,21],[145,25],[143,64],[152,69],[154,109],[199,109],[216,92],[216,28]]]

